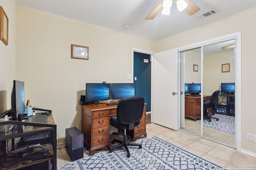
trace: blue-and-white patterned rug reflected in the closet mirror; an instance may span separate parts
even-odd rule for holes
[[[219,121],[216,121],[216,119],[212,119],[211,122],[208,122],[207,119],[204,119],[204,124],[203,124],[204,127],[210,127],[219,131],[235,134],[235,117],[234,116],[215,113],[215,115],[213,115],[212,117],[219,118]],[[196,123],[200,125],[201,120],[197,120]]]

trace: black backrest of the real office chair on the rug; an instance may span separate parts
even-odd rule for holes
[[[142,118],[144,98],[140,96],[122,98],[117,105],[116,117],[121,125],[134,124]]]

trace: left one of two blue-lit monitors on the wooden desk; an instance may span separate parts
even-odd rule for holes
[[[110,99],[110,83],[86,83],[86,102]]]

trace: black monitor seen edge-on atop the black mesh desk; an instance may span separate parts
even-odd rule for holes
[[[12,102],[12,119],[17,121],[18,114],[25,113],[24,82],[13,80],[11,102]]]

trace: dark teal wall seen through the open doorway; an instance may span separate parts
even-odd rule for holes
[[[148,59],[148,63],[144,63]],[[134,52],[134,77],[136,96],[142,96],[147,104],[147,111],[151,111],[151,61],[149,54]],[[137,80],[135,80],[137,77]]]

